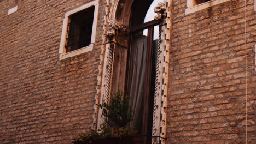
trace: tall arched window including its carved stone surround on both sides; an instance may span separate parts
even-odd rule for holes
[[[143,143],[164,143],[168,77],[167,2],[112,2],[107,3],[111,7],[106,14],[104,61],[96,103],[108,103],[110,95],[120,89],[123,95],[130,96],[133,110],[130,126],[143,135]],[[103,123],[101,109],[96,109],[95,115],[94,124],[99,128]]]

